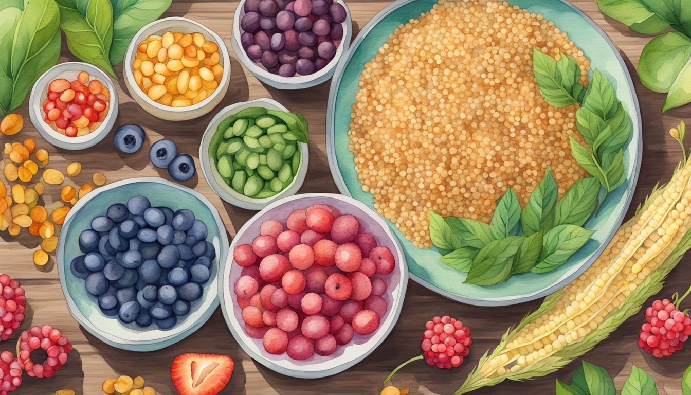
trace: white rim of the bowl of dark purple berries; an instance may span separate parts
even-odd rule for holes
[[[316,73],[312,73],[310,75],[283,77],[278,74],[269,73],[269,71],[267,71],[265,68],[256,64],[254,60],[249,59],[249,56],[247,56],[247,53],[243,48],[243,44],[240,42],[240,35],[243,34],[243,32],[240,31],[240,14],[243,13],[245,1],[247,0],[240,0],[240,3],[238,3],[237,8],[235,9],[235,15],[233,17],[233,37],[231,37],[231,39],[234,42],[236,42],[237,48],[240,48],[240,50],[235,51],[235,55],[240,59],[240,62],[242,62],[242,64],[245,67],[247,67],[247,69],[253,74],[259,75],[260,77],[263,77],[267,80],[272,80],[278,84],[307,84],[313,82],[314,80],[318,80],[320,77],[324,77],[329,73],[333,73],[333,71],[336,69],[337,64],[339,63],[339,59],[341,59],[343,53],[345,53],[345,51],[348,50],[348,47],[350,47],[350,37],[352,35],[352,20],[350,17],[350,8],[348,8],[348,4],[346,4],[345,1],[334,0],[334,2],[341,4],[341,6],[345,8],[345,21],[341,22],[341,25],[343,25],[343,38],[341,39],[341,43],[339,44],[339,46],[336,48],[336,55],[334,55],[334,57],[329,61],[329,63],[321,70],[316,71]]]

